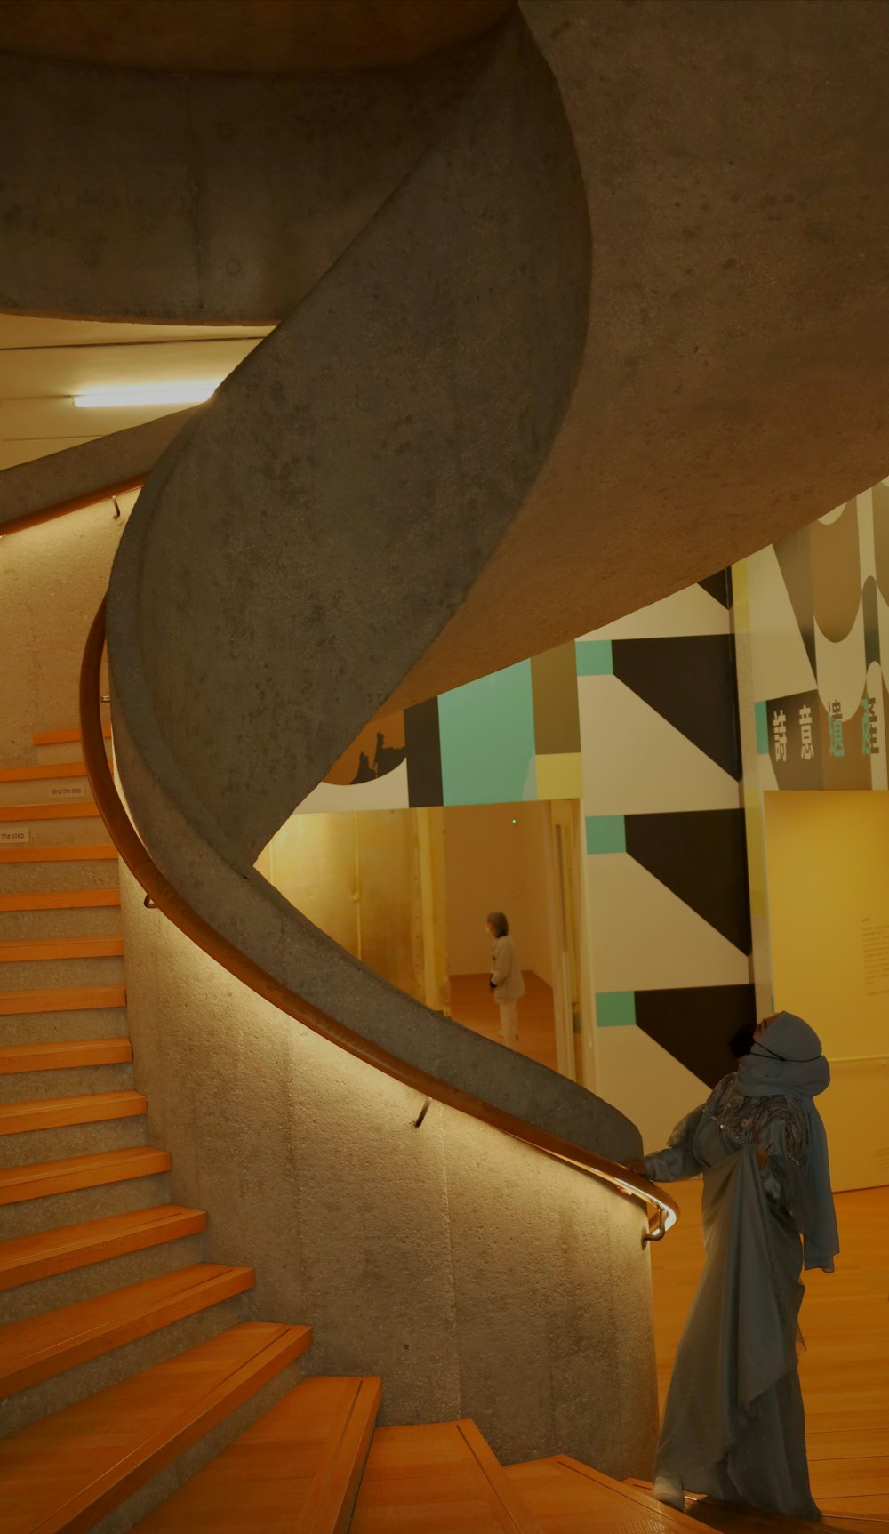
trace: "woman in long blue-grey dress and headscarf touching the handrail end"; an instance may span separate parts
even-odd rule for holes
[[[818,1035],[776,1012],[737,1072],[633,1163],[656,1183],[704,1174],[705,1266],[664,1407],[653,1493],[684,1491],[820,1519],[797,1374],[800,1269],[838,1252],[828,1141],[814,1104],[831,1080]]]

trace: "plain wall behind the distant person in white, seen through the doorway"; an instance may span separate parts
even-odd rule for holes
[[[481,974],[490,963],[487,911],[506,911],[523,969],[552,985],[544,804],[444,810],[448,965]]]

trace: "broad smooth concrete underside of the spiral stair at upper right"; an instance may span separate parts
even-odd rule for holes
[[[679,591],[889,469],[889,8],[523,14],[593,227],[584,367],[544,472],[394,706]]]

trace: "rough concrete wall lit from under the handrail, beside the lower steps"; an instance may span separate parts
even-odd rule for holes
[[[383,1376],[383,1422],[472,1416],[506,1460],[644,1473],[656,1425],[642,1210],[422,1098],[261,1002],[124,877],[130,1029],[173,1198],[313,1371]]]

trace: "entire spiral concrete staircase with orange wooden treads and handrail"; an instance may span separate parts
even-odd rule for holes
[[[638,1132],[254,861],[374,713],[886,474],[886,12],[172,14],[0,9],[0,304],[276,325],[207,408],[0,477],[6,532],[146,480],[107,600],[132,821],[103,612],[86,765],[43,744],[112,842],[8,861],[11,962],[118,962],[31,925],[112,907],[112,848],[172,923],[124,874],[127,997],[51,969],[3,1002],[0,1531],[687,1523],[625,1482],[671,1215]]]

